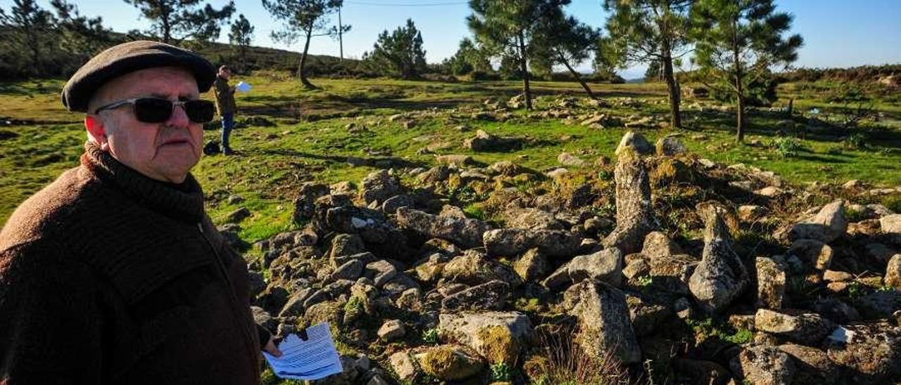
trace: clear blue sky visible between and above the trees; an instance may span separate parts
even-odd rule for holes
[[[9,9],[12,0],[0,0]],[[82,13],[103,16],[114,31],[146,28],[148,22],[122,0],[73,1]],[[210,0],[221,6],[227,0]],[[582,22],[603,27],[606,14],[600,0],[573,0],[567,7]],[[49,0],[39,4],[50,7]],[[256,27],[254,45],[300,50],[303,42],[292,46],[277,44],[269,33],[278,29],[260,0],[235,0]],[[901,63],[901,0],[777,0],[778,10],[795,15],[794,31],[805,39],[796,67],[854,67]],[[465,18],[469,7],[464,0],[345,0],[342,21],[352,29],[344,36],[344,56],[360,58],[372,49],[378,33],[393,30],[412,18],[423,33],[427,60],[440,62],[453,54],[457,44],[469,35]],[[222,41],[228,39],[223,28]],[[310,53],[338,56],[336,40],[314,38]],[[579,67],[588,70],[590,66]],[[640,77],[642,66],[622,71],[627,78]]]

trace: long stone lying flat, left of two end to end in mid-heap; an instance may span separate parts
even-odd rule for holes
[[[482,245],[491,227],[478,219],[441,217],[405,207],[397,209],[397,224],[424,237],[447,239],[465,248]]]

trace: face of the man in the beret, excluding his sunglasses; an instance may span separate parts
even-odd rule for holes
[[[91,101],[98,106],[137,97],[158,97],[169,101],[199,99],[197,83],[190,72],[179,67],[142,69],[107,82]],[[90,120],[94,120],[91,122]],[[100,124],[103,135],[91,136],[125,166],[152,179],[181,183],[201,154],[204,130],[201,123],[187,119],[177,106],[162,123],[145,123],[135,118],[133,104],[88,115],[86,124]]]

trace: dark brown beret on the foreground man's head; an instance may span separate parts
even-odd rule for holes
[[[100,52],[78,68],[62,88],[62,103],[68,111],[87,112],[87,102],[106,82],[152,67],[184,67],[194,74],[201,93],[210,89],[216,76],[213,64],[192,51],[159,41],[129,41]]]

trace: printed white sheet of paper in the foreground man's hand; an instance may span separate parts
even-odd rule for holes
[[[272,372],[279,378],[291,380],[319,380],[340,373],[341,357],[335,350],[329,324],[306,328],[306,341],[291,334],[285,337],[278,350],[281,357],[263,352]]]

